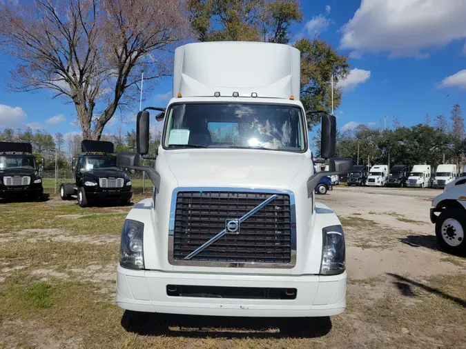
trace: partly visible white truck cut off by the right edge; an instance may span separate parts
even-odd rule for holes
[[[435,223],[437,242],[444,250],[466,253],[466,178],[449,182],[443,193],[434,197],[430,220]]]

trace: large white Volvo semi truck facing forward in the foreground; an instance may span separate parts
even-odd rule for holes
[[[117,267],[117,305],[137,312],[323,317],[346,307],[344,234],[315,202],[322,176],[351,170],[333,158],[336,118],[322,112],[314,173],[299,100],[300,52],[273,43],[190,43],[175,50],[173,99],[155,169],[149,113],[137,115],[137,153],[151,199],[129,212]],[[156,108],[146,108],[148,110]]]

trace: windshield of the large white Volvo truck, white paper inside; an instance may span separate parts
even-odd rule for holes
[[[240,103],[183,103],[168,111],[164,148],[307,149],[301,109]]]

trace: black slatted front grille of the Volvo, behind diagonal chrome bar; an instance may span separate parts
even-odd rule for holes
[[[260,192],[178,192],[173,228],[173,259],[184,257],[273,194]],[[290,263],[290,196],[278,197],[242,221],[237,233],[215,241],[189,261]],[[293,246],[295,250],[295,246]]]

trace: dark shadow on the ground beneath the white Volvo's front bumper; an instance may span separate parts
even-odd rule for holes
[[[233,338],[315,338],[331,330],[330,317],[251,318],[168,315],[126,310],[122,327],[146,336]],[[279,330],[279,331],[278,331]]]

